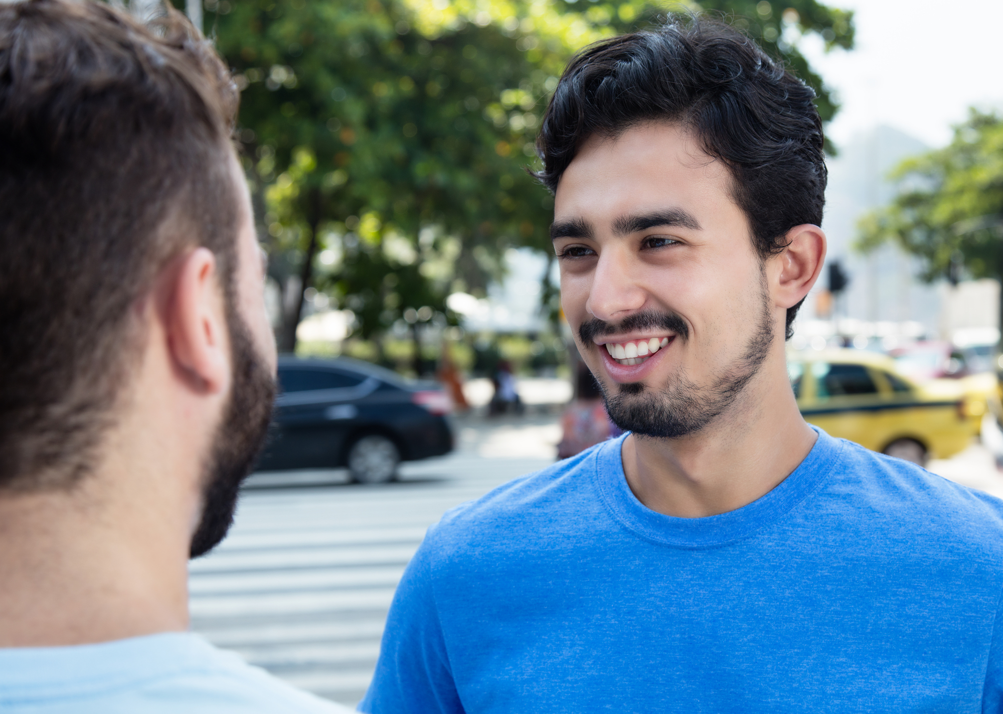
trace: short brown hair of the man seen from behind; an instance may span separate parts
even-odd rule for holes
[[[0,489],[92,467],[135,306],[193,246],[232,305],[238,93],[188,20],[94,0],[0,5]]]

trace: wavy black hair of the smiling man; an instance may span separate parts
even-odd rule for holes
[[[536,175],[554,192],[592,134],[678,122],[730,169],[732,198],[765,260],[786,248],[794,226],[821,225],[826,170],[813,99],[810,87],[728,25],[670,20],[591,45],[571,61],[537,138],[544,168]],[[800,306],[787,310],[787,339]]]

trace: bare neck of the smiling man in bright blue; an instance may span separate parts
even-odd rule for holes
[[[624,473],[638,499],[660,513],[696,518],[747,505],[786,478],[816,434],[801,418],[785,370],[774,365],[772,372],[757,374],[725,413],[698,432],[673,439],[628,436]]]

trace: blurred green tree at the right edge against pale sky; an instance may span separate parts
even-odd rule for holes
[[[892,177],[895,200],[861,220],[862,250],[894,241],[923,259],[927,281],[957,284],[963,271],[1003,280],[1003,118],[971,109],[948,146],[903,161]],[[1003,305],[1000,317],[1003,326]]]

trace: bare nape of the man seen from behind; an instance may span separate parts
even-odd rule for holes
[[[88,485],[0,496],[0,647],[188,628],[187,553],[175,546],[186,540],[153,512],[169,504],[152,493],[149,508],[126,512]]]

